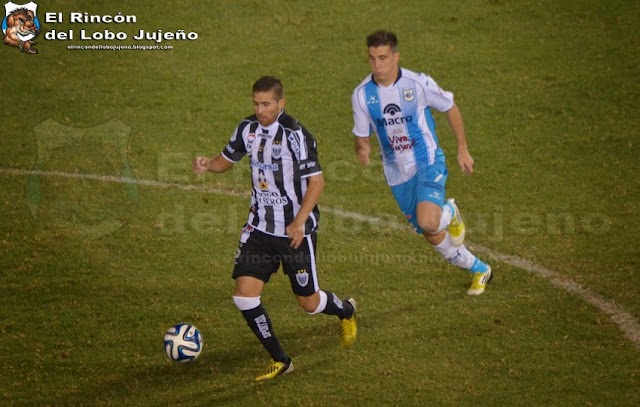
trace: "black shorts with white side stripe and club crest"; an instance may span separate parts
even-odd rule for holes
[[[272,236],[246,225],[240,236],[232,276],[234,279],[255,277],[268,283],[282,264],[294,294],[308,297],[320,289],[316,275],[317,241],[317,234],[312,233],[294,249],[288,237]]]

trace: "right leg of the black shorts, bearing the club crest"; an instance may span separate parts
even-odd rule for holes
[[[289,245],[288,239],[283,244],[282,268],[296,296],[309,297],[320,289],[316,269],[317,239],[315,233],[307,235],[297,249]]]

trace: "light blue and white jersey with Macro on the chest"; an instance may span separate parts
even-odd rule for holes
[[[402,184],[420,165],[444,160],[431,109],[446,112],[453,94],[428,75],[401,68],[393,85],[384,87],[369,75],[353,91],[353,134],[378,136],[384,175],[390,186]]]

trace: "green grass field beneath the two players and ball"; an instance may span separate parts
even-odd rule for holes
[[[0,404],[640,403],[638,2],[210,3],[43,1],[45,32],[129,39],[0,47]],[[137,22],[46,24],[46,12]],[[379,159],[362,168],[353,154],[350,97],[378,28],[465,118],[471,177],[436,119],[447,192],[495,272],[477,298],[468,275],[401,227]],[[155,45],[131,40],[140,29],[199,37],[67,49]],[[190,161],[223,148],[264,74],[282,78],[288,112],[318,140],[321,286],[360,313],[342,350],[337,322],[307,316],[276,275],[262,300],[296,370],[256,384],[268,357],[230,277],[247,164],[200,177]],[[178,365],[162,336],[183,321],[205,348]]]

